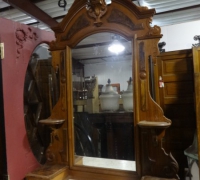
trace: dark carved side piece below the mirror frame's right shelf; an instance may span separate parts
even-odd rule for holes
[[[141,135],[143,136],[142,145],[143,148],[146,148],[143,151],[143,156],[146,157],[143,161],[146,164],[143,173],[155,177],[175,178],[178,180],[179,165],[172,154],[166,153],[162,147],[165,135],[163,126],[154,128],[151,126],[141,126],[140,124],[140,127],[142,128]]]

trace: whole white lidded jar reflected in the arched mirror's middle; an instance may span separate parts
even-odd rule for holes
[[[119,98],[120,95],[114,91],[108,79],[105,92],[102,92],[99,96],[102,111],[117,111],[119,109]]]

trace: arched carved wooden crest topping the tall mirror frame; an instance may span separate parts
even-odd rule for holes
[[[160,27],[150,26],[154,9],[138,7],[129,0],[103,2],[76,0],[59,26],[53,28],[57,38],[51,43],[51,50],[64,49],[66,45],[74,47],[98,32],[113,32],[126,39],[132,39],[135,34],[138,39],[162,37]]]

